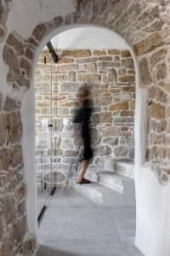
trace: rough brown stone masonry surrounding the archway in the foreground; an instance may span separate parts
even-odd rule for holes
[[[0,254],[4,256],[32,255],[35,247],[33,242],[24,242],[27,230],[26,185],[20,145],[20,107],[17,107],[20,102],[17,98],[24,97],[30,88],[36,49],[56,27],[71,24],[104,26],[127,40],[138,63],[139,86],[149,90],[147,160],[160,183],[167,183],[170,173],[169,0],[77,0],[74,13],[52,17],[48,12],[49,21],[42,19],[30,36],[24,38],[18,30],[10,32],[6,26],[12,2],[0,1],[0,44],[4,44],[3,61],[8,67],[8,95],[0,96],[3,124],[0,142]],[[120,82],[126,81],[127,78]],[[6,101],[14,102],[12,106],[15,107],[4,108],[5,104],[8,105]],[[13,119],[17,120],[16,124]]]

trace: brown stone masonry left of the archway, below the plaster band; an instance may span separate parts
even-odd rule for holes
[[[20,102],[0,96],[0,109],[0,255],[16,255],[26,233]]]

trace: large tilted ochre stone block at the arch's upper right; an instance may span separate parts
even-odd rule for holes
[[[139,43],[133,44],[133,49],[136,55],[144,55],[153,49],[161,46],[163,41],[159,32],[151,33],[147,38],[141,40]]]

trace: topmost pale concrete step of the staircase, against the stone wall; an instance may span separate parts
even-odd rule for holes
[[[128,159],[105,159],[105,170],[134,178],[134,162]]]

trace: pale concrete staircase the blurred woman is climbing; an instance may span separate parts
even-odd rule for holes
[[[88,199],[103,206],[135,206],[132,160],[105,160],[105,169],[90,167],[85,177],[91,182],[79,185],[71,179],[70,185]]]

